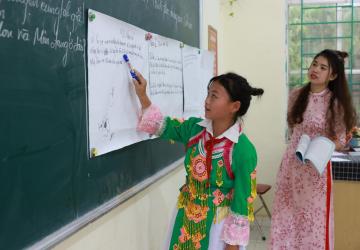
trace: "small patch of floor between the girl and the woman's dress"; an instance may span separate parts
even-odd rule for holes
[[[269,241],[269,233],[270,233],[270,219],[266,216],[257,216],[256,217],[259,224],[262,227],[264,235],[266,237],[265,240],[262,240],[262,235],[256,227],[255,223],[251,224],[250,227],[250,243],[246,247],[246,250],[266,250],[267,243]]]

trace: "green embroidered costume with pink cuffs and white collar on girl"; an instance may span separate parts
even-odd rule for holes
[[[169,249],[208,249],[210,229],[223,223],[221,240],[246,246],[256,197],[256,151],[239,123],[214,138],[209,120],[163,117],[152,105],[138,129],[186,146],[186,182],[180,188],[178,211]],[[230,135],[231,134],[231,135]],[[235,135],[235,136],[234,136]],[[230,138],[230,139],[229,139]]]

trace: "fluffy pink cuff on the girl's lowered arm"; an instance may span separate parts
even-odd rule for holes
[[[250,226],[247,216],[230,211],[224,222],[221,239],[233,246],[247,246],[250,237]]]

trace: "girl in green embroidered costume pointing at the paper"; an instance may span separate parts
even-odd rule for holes
[[[136,94],[143,109],[141,131],[183,143],[186,183],[181,187],[168,249],[231,250],[249,241],[256,196],[253,144],[242,132],[251,96],[263,94],[243,77],[214,77],[205,100],[206,119],[183,122],[163,117],[146,95],[147,82],[136,72]]]

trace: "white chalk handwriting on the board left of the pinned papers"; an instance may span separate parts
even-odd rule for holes
[[[16,39],[32,43],[33,46],[61,50],[61,63],[64,67],[71,53],[85,53],[86,39],[78,34],[79,28],[84,25],[84,2],[79,6],[72,6],[71,1],[64,0],[59,3],[8,0],[7,4],[11,5],[11,11],[21,13],[21,19],[8,18],[0,1],[0,39]],[[50,21],[33,18],[40,13],[49,17],[45,19]]]

